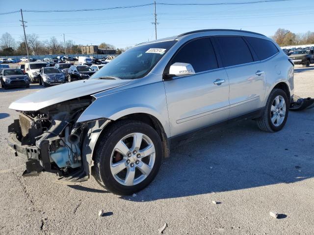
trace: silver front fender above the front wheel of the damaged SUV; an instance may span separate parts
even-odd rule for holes
[[[94,95],[96,100],[87,107],[77,122],[99,118],[117,120],[124,116],[144,113],[154,116],[170,137],[170,126],[166,95],[162,82],[146,84],[103,96]]]

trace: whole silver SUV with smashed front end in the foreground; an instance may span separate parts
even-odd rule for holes
[[[79,80],[10,105],[8,144],[24,176],[57,173],[65,184],[93,175],[121,195],[145,188],[170,144],[232,120],[281,130],[293,95],[293,62],[271,39],[199,30],[132,47]]]

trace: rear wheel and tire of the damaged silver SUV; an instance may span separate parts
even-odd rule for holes
[[[281,102],[282,100],[285,101],[283,107],[278,110],[276,106],[278,101],[275,100],[275,98],[277,97],[279,99],[279,102]],[[289,113],[289,100],[287,94],[281,89],[274,89],[268,96],[262,117],[257,119],[258,126],[262,131],[267,132],[280,131],[286,124],[288,113]],[[284,117],[282,114],[284,114]],[[276,116],[279,116],[280,118],[277,119]],[[272,121],[272,118],[275,119],[275,123]]]

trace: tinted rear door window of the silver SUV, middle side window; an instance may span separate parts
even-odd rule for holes
[[[242,37],[216,37],[225,67],[253,62],[249,47]]]

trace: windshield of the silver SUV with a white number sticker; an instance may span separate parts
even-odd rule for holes
[[[133,47],[117,56],[90,79],[115,76],[121,79],[144,77],[177,41],[157,42]]]

